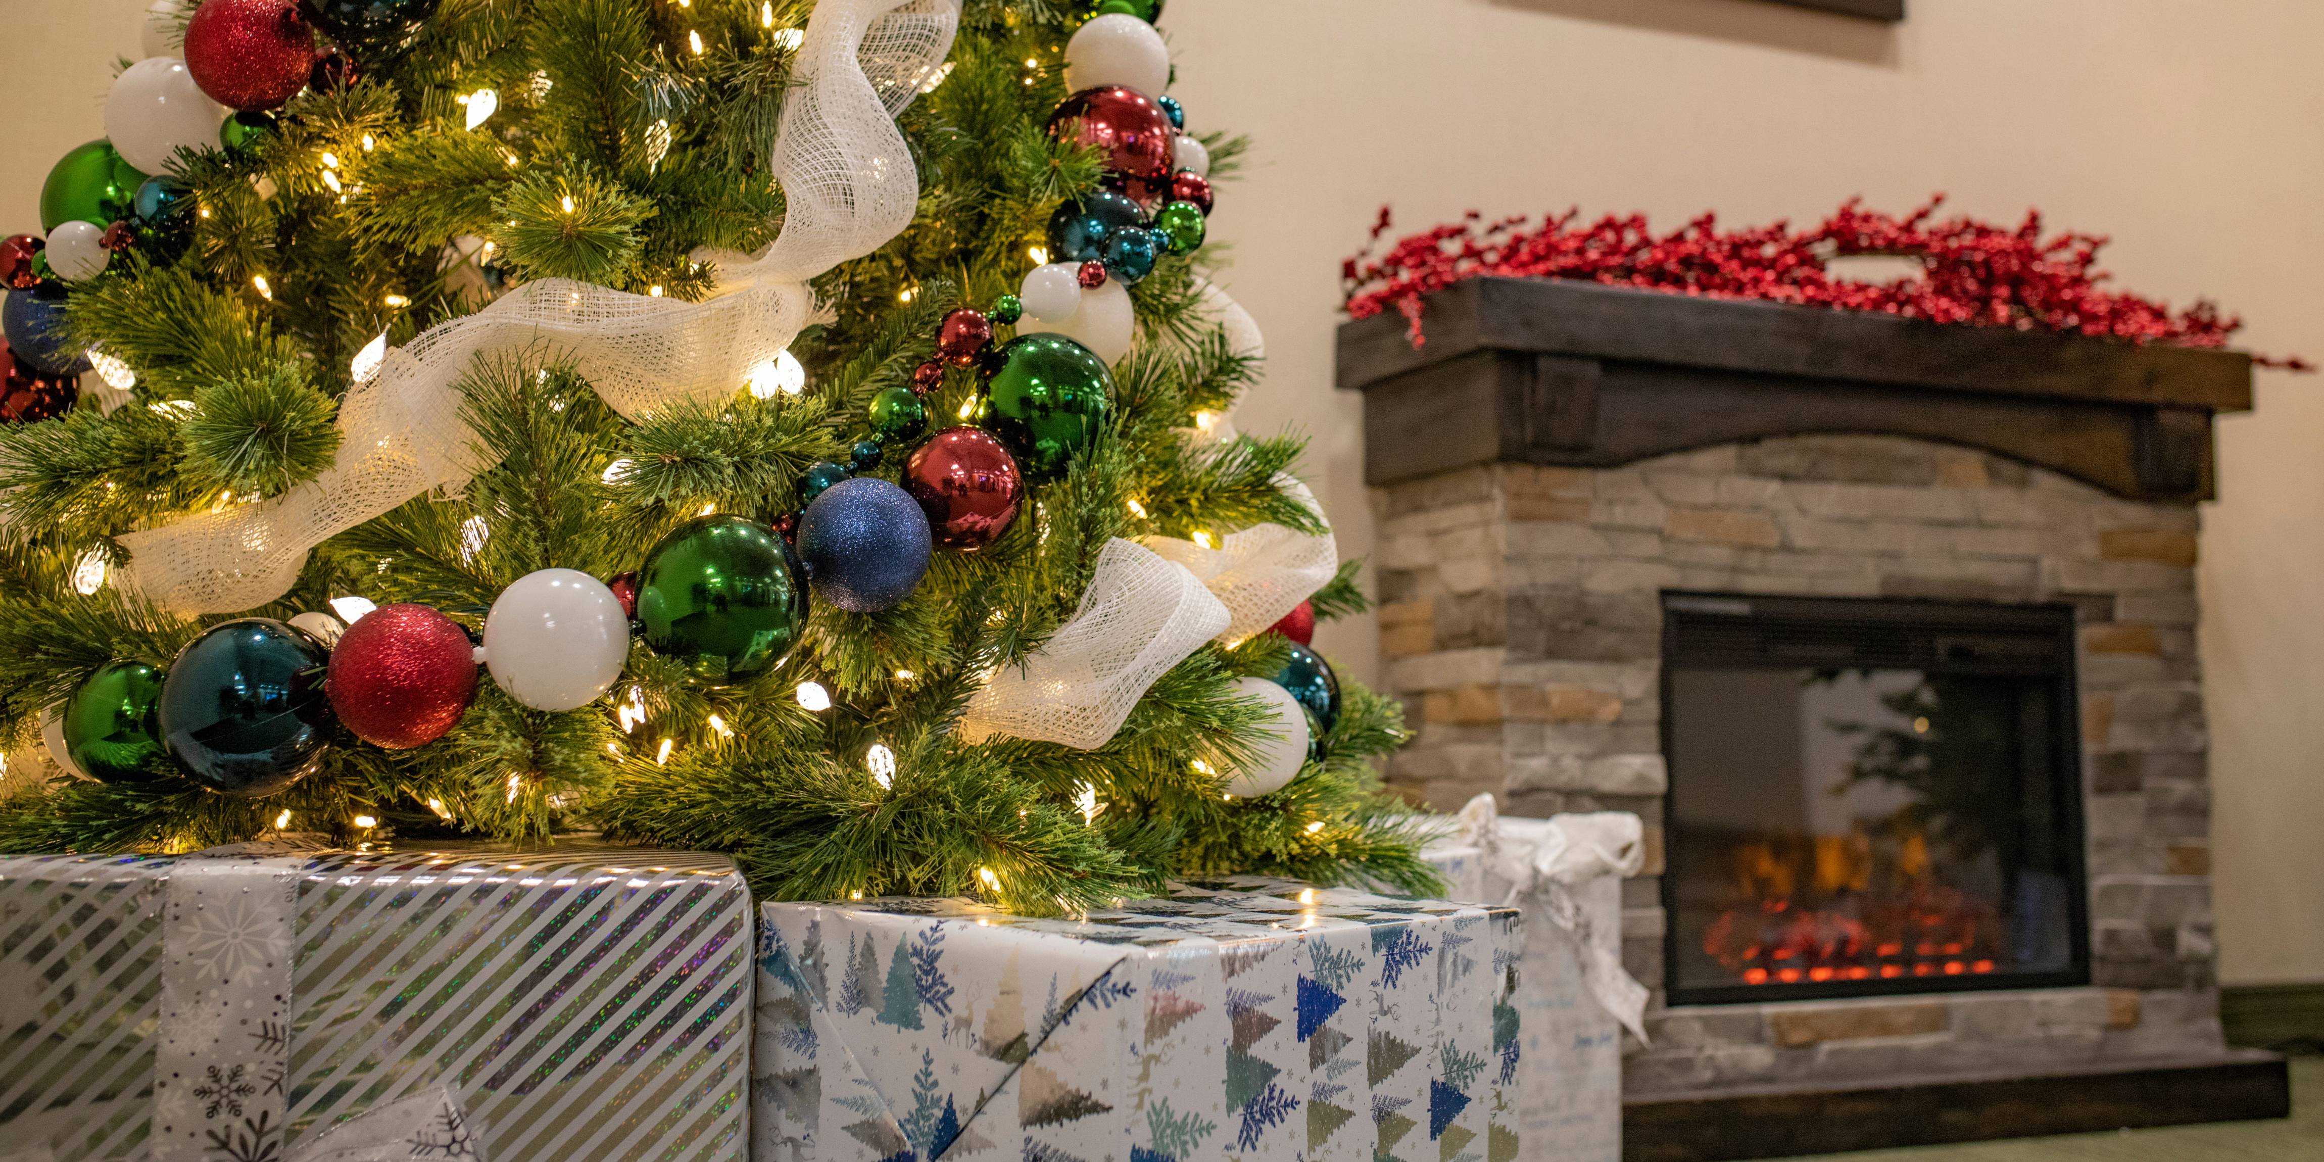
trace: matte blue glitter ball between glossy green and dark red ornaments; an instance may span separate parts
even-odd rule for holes
[[[848,614],[878,614],[911,597],[932,548],[920,502],[878,476],[834,483],[799,518],[816,600]]]

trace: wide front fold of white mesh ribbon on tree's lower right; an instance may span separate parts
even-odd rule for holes
[[[960,737],[992,734],[1095,751],[1146,688],[1227,625],[1190,572],[1125,539],[1106,541],[1074,618],[969,700]]]

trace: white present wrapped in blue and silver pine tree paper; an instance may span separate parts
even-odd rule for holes
[[[1513,1162],[1513,909],[1183,885],[760,909],[753,1162]]]

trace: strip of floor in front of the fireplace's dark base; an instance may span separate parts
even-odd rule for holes
[[[2291,1118],[1820,1155],[1815,1162],[2324,1162],[2324,1057],[2291,1057]]]

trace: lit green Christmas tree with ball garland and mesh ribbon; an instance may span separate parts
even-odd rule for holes
[[[1432,888],[1160,7],[158,0],[0,244],[0,851]]]

